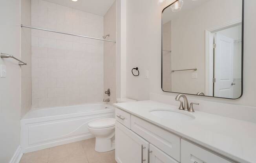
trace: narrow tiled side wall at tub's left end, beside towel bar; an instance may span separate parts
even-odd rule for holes
[[[31,0],[21,1],[21,23],[31,25]],[[21,60],[27,65],[21,67],[21,117],[30,109],[32,104],[31,86],[31,29],[21,28]]]

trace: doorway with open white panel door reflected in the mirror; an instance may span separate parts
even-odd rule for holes
[[[209,32],[207,43],[209,96],[238,98],[241,94],[241,23]],[[212,78],[212,80],[210,80]]]

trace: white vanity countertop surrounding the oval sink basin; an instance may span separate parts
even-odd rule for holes
[[[178,108],[155,101],[116,103],[114,105],[234,161],[256,163],[256,123],[199,111],[190,113],[184,110],[182,112],[192,114],[196,118],[189,121],[164,119],[152,115],[150,110],[178,110]]]

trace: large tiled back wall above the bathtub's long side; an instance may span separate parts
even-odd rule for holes
[[[31,0],[31,25],[101,38],[102,16]],[[31,31],[32,107],[101,102],[103,42],[46,31]]]

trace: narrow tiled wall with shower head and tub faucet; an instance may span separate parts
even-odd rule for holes
[[[116,40],[116,2],[112,4],[104,15],[104,35],[110,34],[107,40]],[[110,89],[110,103],[116,103],[116,44],[104,42],[104,91]]]

